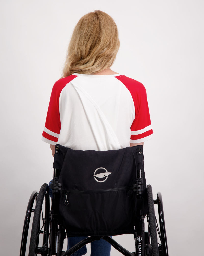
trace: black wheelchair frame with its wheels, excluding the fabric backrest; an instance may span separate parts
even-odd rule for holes
[[[23,226],[20,256],[25,256],[28,230],[31,215],[33,222],[31,229],[29,256],[41,254],[43,256],[70,256],[85,244],[104,239],[125,256],[168,256],[167,237],[165,230],[164,211],[161,193],[153,199],[152,187],[147,185],[148,214],[143,214],[143,204],[138,204],[135,225],[135,252],[129,252],[109,236],[90,236],[77,243],[68,251],[62,251],[63,241],[66,238],[65,228],[59,218],[59,198],[61,184],[59,183],[60,170],[54,169],[52,188],[52,204],[50,210],[49,185],[44,183],[39,191],[33,191],[26,210]],[[143,179],[142,170],[137,170],[136,184],[133,185],[136,200],[142,202]],[[33,205],[35,203],[35,209]],[[158,207],[159,225],[155,216],[154,204]],[[141,206],[140,206],[141,205]],[[147,218],[148,231],[145,232],[144,219]],[[42,243],[42,246],[39,243]]]

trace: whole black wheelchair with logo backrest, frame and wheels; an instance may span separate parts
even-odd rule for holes
[[[70,256],[84,245],[100,239],[125,256],[168,256],[162,196],[158,192],[157,199],[153,199],[151,185],[146,186],[143,158],[142,145],[111,151],[79,151],[56,144],[50,186],[52,195],[46,183],[39,193],[33,191],[31,194],[20,256],[25,256],[27,251],[28,256]],[[90,170],[90,175],[86,170]],[[116,176],[113,178],[114,171]],[[157,205],[159,223],[154,205]],[[76,210],[76,207],[81,208]],[[79,223],[75,223],[79,219]],[[63,251],[66,232],[67,236],[88,238]],[[135,252],[129,252],[110,237],[125,233],[133,234]]]

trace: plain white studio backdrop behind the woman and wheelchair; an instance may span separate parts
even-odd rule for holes
[[[202,254],[203,8],[201,0],[1,1],[2,255],[19,255],[30,194],[52,178],[41,141],[51,89],[75,24],[95,9],[119,29],[112,69],[147,90],[154,138],[144,145],[145,172],[154,197],[162,192],[169,255]],[[132,235],[115,239],[134,250]]]

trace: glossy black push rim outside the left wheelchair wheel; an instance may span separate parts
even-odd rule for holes
[[[29,225],[30,225],[30,218],[31,218],[31,214],[34,212],[33,204],[34,204],[34,201],[36,200],[37,195],[38,195],[38,192],[33,191],[33,193],[30,196],[30,199],[28,201],[28,206],[26,209],[25,220],[24,220],[24,225],[23,225],[20,256],[25,256],[25,250],[26,250],[26,244],[27,244],[27,238],[28,238],[28,230],[29,230]]]

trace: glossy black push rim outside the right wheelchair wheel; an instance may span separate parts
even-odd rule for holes
[[[159,213],[159,226],[160,226],[160,240],[161,244],[159,250],[161,251],[162,256],[168,256],[168,247],[167,247],[167,235],[166,235],[166,227],[164,220],[164,210],[163,210],[163,201],[161,193],[157,193],[157,205],[158,205],[158,213]]]

